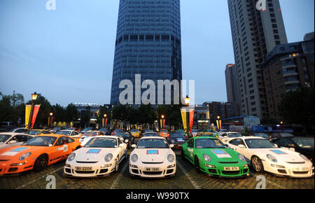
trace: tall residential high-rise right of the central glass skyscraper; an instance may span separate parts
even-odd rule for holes
[[[287,43],[279,0],[228,0],[241,115],[267,117],[262,62],[276,45]]]

